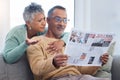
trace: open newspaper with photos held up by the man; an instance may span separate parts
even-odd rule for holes
[[[101,66],[100,56],[107,52],[113,34],[81,32],[72,29],[65,54],[68,64],[77,66]]]

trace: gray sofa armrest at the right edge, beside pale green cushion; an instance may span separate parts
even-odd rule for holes
[[[112,80],[120,80],[120,55],[113,56],[112,63]]]

